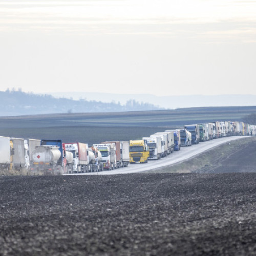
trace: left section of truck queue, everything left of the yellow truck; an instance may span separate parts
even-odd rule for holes
[[[0,169],[63,174],[99,172],[128,164],[128,141],[104,141],[89,147],[80,142],[0,136]]]

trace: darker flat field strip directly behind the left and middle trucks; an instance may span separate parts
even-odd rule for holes
[[[56,126],[37,128],[0,129],[0,136],[33,138],[33,139],[62,139],[63,142],[82,142],[89,145],[102,141],[129,141],[150,136],[165,127],[104,127],[104,126]]]

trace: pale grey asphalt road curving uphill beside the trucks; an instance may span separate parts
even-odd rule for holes
[[[103,172],[98,173],[83,173],[83,174],[67,174],[67,175],[113,175],[113,174],[131,174],[131,173],[138,173],[143,172],[145,170],[151,170],[155,168],[160,168],[163,166],[173,165],[184,160],[187,160],[191,157],[194,157],[200,153],[203,153],[210,148],[219,146],[222,143],[247,138],[247,136],[234,136],[234,137],[226,137],[215,139],[206,142],[200,142],[197,145],[192,145],[188,147],[182,147],[180,151],[175,151],[173,154],[168,155],[165,158],[161,158],[160,160],[151,160],[148,163],[137,163],[137,164],[130,164],[125,168],[118,168],[115,170],[104,170]]]

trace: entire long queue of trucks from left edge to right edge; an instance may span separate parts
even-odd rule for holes
[[[0,137],[0,168],[27,169],[45,174],[86,173],[146,163],[191,146],[226,136],[255,135],[255,125],[243,122],[216,121],[189,124],[182,129],[165,130],[141,140],[63,143],[61,140],[38,140]]]

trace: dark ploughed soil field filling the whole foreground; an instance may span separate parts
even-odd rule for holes
[[[255,255],[256,174],[0,178],[0,255]]]

